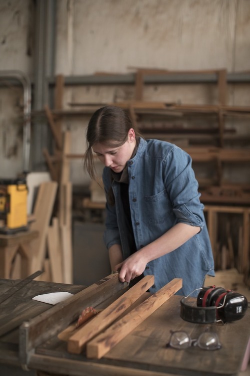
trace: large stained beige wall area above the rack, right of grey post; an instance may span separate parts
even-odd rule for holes
[[[56,72],[249,68],[247,0],[61,0]]]

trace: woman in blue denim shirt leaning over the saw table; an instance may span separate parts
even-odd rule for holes
[[[190,156],[171,143],[143,139],[115,106],[92,115],[86,142],[90,177],[96,179],[92,151],[105,166],[104,242],[120,281],[149,274],[150,292],[173,278],[182,278],[180,295],[201,288],[214,265]]]

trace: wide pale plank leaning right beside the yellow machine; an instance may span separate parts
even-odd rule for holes
[[[30,273],[42,269],[42,264],[45,259],[45,243],[47,230],[49,226],[50,217],[54,205],[55,195],[57,190],[57,182],[46,181],[40,184],[38,195],[35,201],[34,216],[35,222],[31,223],[30,230],[38,231],[37,239],[30,244],[32,259],[30,266]]]

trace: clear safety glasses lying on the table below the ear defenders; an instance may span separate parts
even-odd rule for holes
[[[221,347],[216,333],[204,331],[200,334],[198,339],[191,339],[185,331],[173,331],[169,343],[166,347],[173,347],[178,350],[183,350],[190,346],[197,346],[203,350],[217,350]]]

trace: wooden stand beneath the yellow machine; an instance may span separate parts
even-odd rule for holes
[[[0,234],[0,278],[23,279],[31,274],[30,243],[38,234],[38,231]]]

